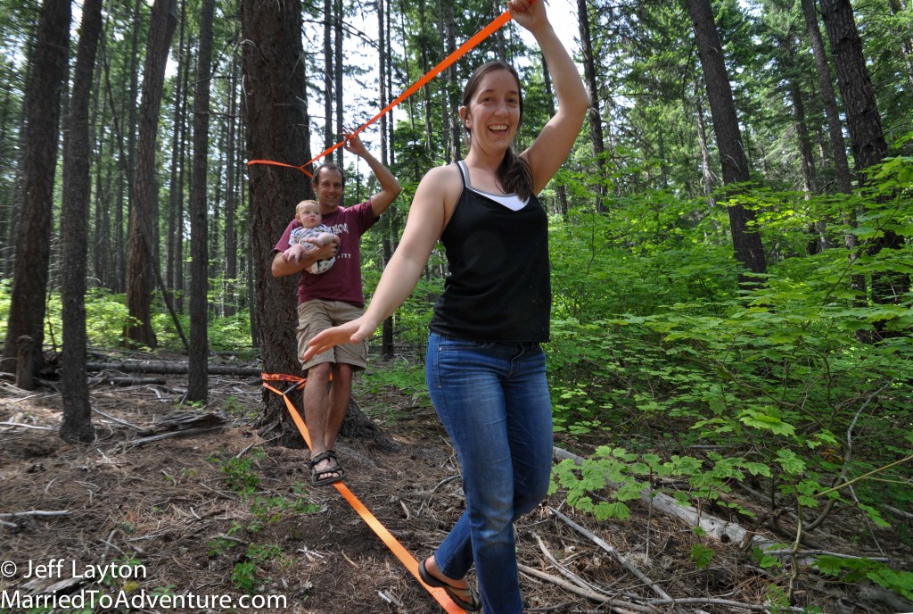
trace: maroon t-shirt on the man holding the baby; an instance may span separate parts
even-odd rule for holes
[[[348,302],[356,307],[364,307],[362,292],[362,235],[374,225],[379,218],[374,216],[371,201],[360,205],[341,206],[330,215],[324,216],[321,224],[330,228],[340,238],[340,249],[336,252],[336,261],[325,273],[315,275],[306,270],[301,271],[298,282],[299,304],[313,299],[323,301]],[[276,244],[277,251],[289,249],[291,231],[300,228],[296,217],[282,233]]]

